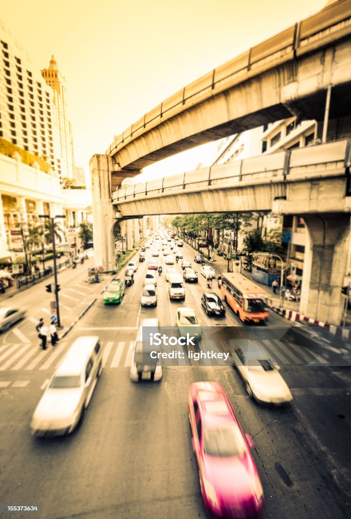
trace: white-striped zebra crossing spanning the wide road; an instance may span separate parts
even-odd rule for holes
[[[5,372],[32,372],[54,370],[60,363],[69,348],[68,341],[60,341],[55,347],[48,344],[47,350],[39,348],[38,344],[5,344],[0,347],[0,374]],[[302,348],[292,344],[283,344],[278,340],[262,340],[260,347],[265,351],[268,358],[274,364],[280,366],[302,366],[302,365],[326,365],[328,364],[328,353],[324,350],[316,351]],[[130,368],[133,357],[135,342],[127,341],[107,341],[104,343],[103,365],[106,368]],[[235,340],[228,342],[204,339],[199,345],[184,347],[165,348],[165,351],[179,350],[184,352],[184,358],[166,359],[161,363],[170,366],[218,366],[231,365],[231,356],[227,361],[217,359],[212,355],[216,353],[230,352],[238,343]],[[194,360],[189,359],[188,350],[195,352],[209,352],[209,358]],[[190,356],[193,357],[193,355]]]

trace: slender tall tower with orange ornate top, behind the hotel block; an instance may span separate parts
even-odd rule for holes
[[[48,69],[41,70],[41,76],[53,90],[54,127],[61,146],[61,176],[73,178],[74,154],[72,125],[67,118],[66,81],[60,73],[54,56],[51,56]]]

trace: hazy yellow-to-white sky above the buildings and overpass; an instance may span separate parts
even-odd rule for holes
[[[201,75],[322,9],[327,0],[16,0],[0,18],[33,61],[54,54],[67,84],[75,161],[89,169],[134,121]],[[192,170],[205,145],[146,168]]]

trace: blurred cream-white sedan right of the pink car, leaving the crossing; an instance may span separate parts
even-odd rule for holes
[[[244,351],[245,350],[245,351]],[[241,374],[246,391],[256,402],[280,405],[291,402],[292,395],[287,383],[267,354],[255,343],[234,347],[233,364]]]

